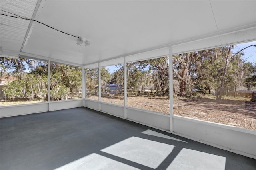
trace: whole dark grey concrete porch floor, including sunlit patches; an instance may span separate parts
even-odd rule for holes
[[[256,170],[256,160],[85,107],[0,119],[1,170]]]

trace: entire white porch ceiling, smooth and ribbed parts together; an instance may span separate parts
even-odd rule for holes
[[[3,2],[7,0],[0,1],[0,9],[18,13],[19,10],[12,9],[14,5],[19,6],[20,1],[12,1],[17,2],[12,3],[13,8],[6,8],[8,3]],[[31,2],[21,2],[21,5],[30,3],[30,13],[36,8],[35,3],[32,8]],[[236,31],[256,27],[256,0],[42,0],[38,4],[35,20],[84,37],[90,41],[90,46],[82,44],[80,51],[76,37],[35,21],[28,31],[28,38],[24,40],[29,21],[1,15],[0,46],[3,51],[0,54],[22,54],[84,65],[197,39],[204,39],[204,43],[211,46],[211,39],[214,38],[214,46],[222,45],[223,40],[216,36],[235,31],[234,37]],[[19,15],[25,16],[23,13]],[[31,18],[32,14],[25,17]],[[20,27],[7,27],[5,25],[12,25],[8,22],[17,23]],[[8,38],[6,29],[19,38]],[[240,41],[256,39],[254,33],[251,31],[252,35]],[[24,41],[26,43],[20,53]],[[225,41],[233,42],[230,39]]]

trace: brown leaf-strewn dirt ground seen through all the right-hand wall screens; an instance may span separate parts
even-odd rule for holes
[[[91,96],[89,99],[98,100]],[[102,97],[102,102],[124,104],[124,97]],[[169,114],[169,100],[166,97],[128,97],[127,106]],[[256,103],[250,98],[232,98],[221,101],[214,98],[176,98],[174,115],[212,121],[226,125],[256,130]]]

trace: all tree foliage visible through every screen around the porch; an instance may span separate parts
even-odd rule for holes
[[[256,87],[256,63],[242,61],[242,50],[232,53],[233,45],[183,53],[173,56],[173,92],[191,96],[192,88],[224,94],[240,86]],[[124,65],[116,70],[101,68],[102,92],[106,84],[124,86]],[[169,93],[168,57],[127,63],[127,90],[132,93]],[[82,70],[65,64],[50,63],[51,100],[81,97]],[[48,100],[48,63],[24,58],[0,58],[1,81],[8,80],[3,91],[6,98],[44,98]],[[86,69],[85,71],[92,71]],[[86,74],[88,95],[98,95],[98,70]],[[106,89],[104,89],[104,87]]]

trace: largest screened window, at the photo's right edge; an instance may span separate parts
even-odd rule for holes
[[[174,55],[174,114],[255,130],[252,45],[256,42]]]

